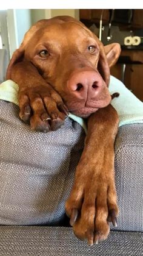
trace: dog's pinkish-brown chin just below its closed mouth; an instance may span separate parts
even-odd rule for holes
[[[99,108],[82,107],[76,110],[70,110],[70,113],[81,118],[88,118],[92,113],[95,113]]]

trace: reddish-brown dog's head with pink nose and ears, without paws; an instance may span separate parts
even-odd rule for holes
[[[13,54],[7,78],[16,62],[28,60],[58,91],[71,113],[87,117],[110,104],[110,66],[120,51],[116,43],[104,47],[84,24],[71,17],[41,20],[28,30]]]

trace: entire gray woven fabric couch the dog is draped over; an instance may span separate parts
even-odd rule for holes
[[[143,255],[143,125],[119,128],[118,227],[90,247],[73,235],[64,210],[84,130],[67,118],[56,132],[32,132],[18,112],[0,101],[0,255]]]

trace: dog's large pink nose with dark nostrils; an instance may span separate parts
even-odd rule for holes
[[[70,77],[67,87],[76,98],[96,98],[102,90],[102,79],[96,71],[78,71]]]

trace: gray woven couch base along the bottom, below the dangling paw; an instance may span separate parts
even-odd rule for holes
[[[1,256],[141,256],[143,234],[111,232],[108,240],[88,246],[67,227],[15,227],[0,229]]]

